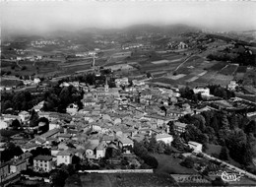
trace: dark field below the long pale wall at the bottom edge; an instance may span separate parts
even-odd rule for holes
[[[177,186],[169,175],[154,173],[87,173],[73,175],[65,187],[154,187]]]

